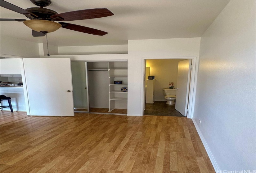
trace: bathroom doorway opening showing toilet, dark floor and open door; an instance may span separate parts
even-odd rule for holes
[[[145,59],[143,115],[188,115],[192,59]]]

